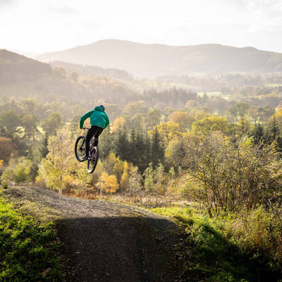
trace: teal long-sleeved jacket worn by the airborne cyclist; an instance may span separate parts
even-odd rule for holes
[[[109,125],[109,117],[100,106],[96,106],[93,110],[87,111],[87,113],[80,118],[80,128],[83,127],[83,123],[87,118],[90,118],[91,126],[106,128]]]

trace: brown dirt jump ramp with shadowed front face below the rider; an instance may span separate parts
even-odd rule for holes
[[[39,188],[8,188],[3,195],[40,221],[56,223],[65,272],[71,267],[66,281],[178,281],[178,230],[169,219]]]

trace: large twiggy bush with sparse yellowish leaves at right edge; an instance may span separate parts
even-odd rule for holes
[[[190,137],[185,163],[187,195],[210,214],[281,201],[282,162],[275,142],[256,145],[243,136],[234,144],[219,133]]]

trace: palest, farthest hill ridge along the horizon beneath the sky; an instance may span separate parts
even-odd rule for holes
[[[118,68],[138,76],[282,71],[280,53],[220,44],[173,47],[107,39],[66,51],[42,54],[37,59]]]

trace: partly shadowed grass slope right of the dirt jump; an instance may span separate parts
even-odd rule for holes
[[[183,240],[176,245],[176,255],[184,262],[180,271],[183,281],[277,282],[281,278],[281,271],[271,269],[264,252],[246,247],[240,236],[236,238],[226,227],[231,226],[232,216],[210,219],[191,207],[162,207],[152,211],[172,217],[182,230]]]

